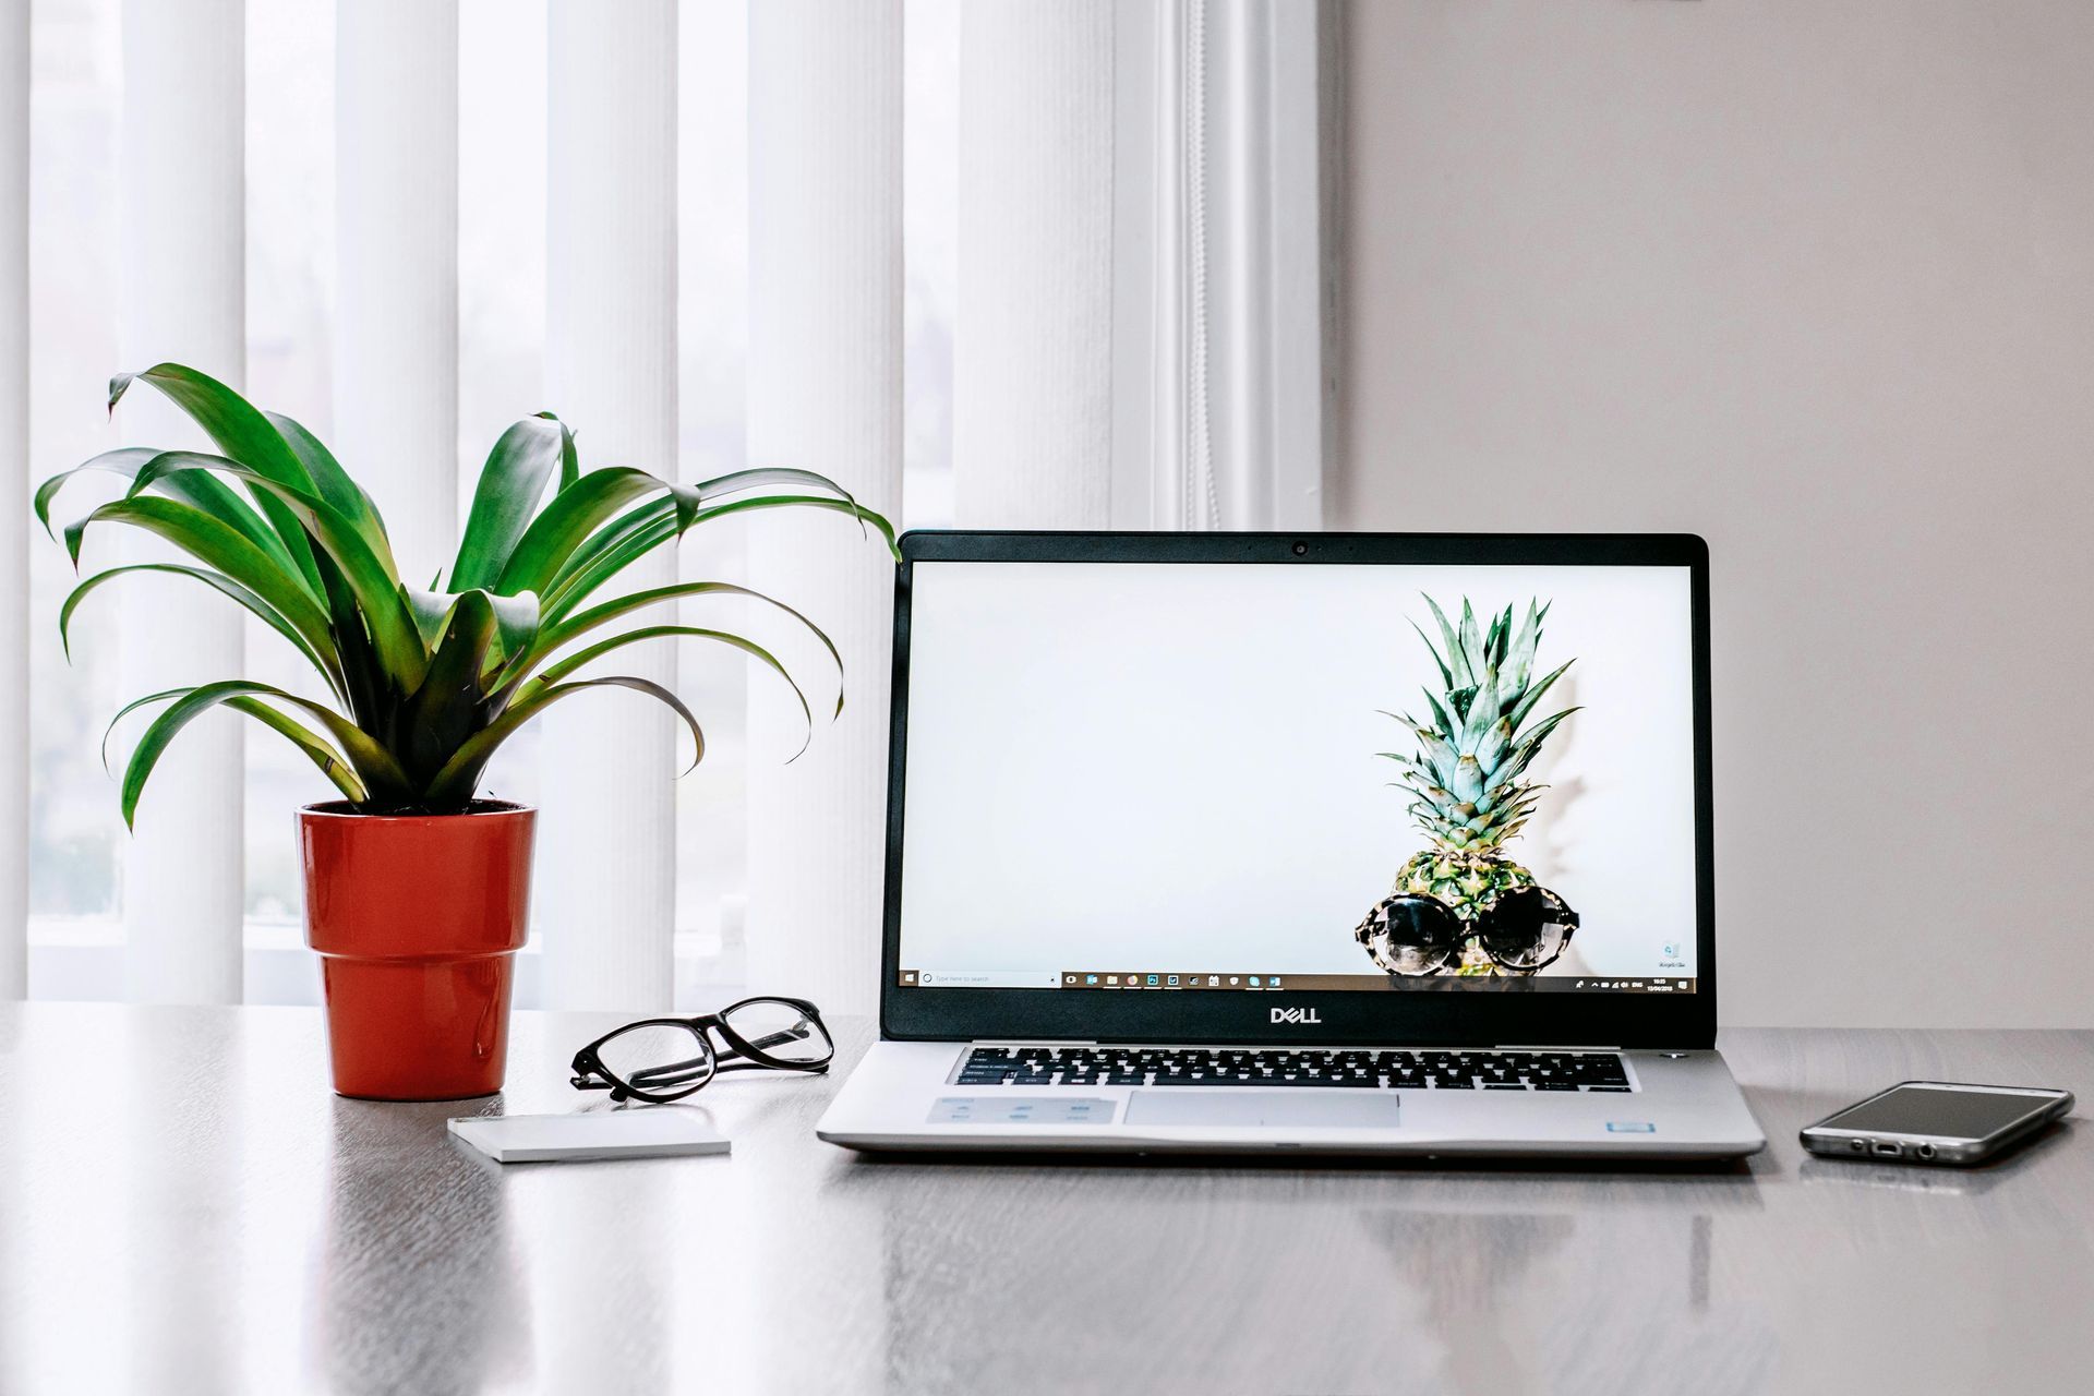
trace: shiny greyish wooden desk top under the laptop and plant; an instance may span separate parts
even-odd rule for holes
[[[509,1109],[611,1019],[521,1013]],[[869,1038],[840,1023],[842,1061]],[[1732,1032],[1719,1170],[877,1162],[821,1078],[731,1157],[500,1168],[329,1095],[312,1009],[0,1005],[4,1392],[1977,1392],[2094,1371],[2084,1126],[1805,1157],[1908,1076],[2094,1099],[2094,1032]]]

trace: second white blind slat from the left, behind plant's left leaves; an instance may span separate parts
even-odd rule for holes
[[[126,0],[119,144],[126,368],[180,360],[241,387],[247,366],[245,4]],[[205,446],[140,389],[124,442]],[[132,559],[163,557],[128,540]],[[132,578],[121,599],[121,693],[241,676],[241,613],[195,584]],[[245,758],[239,718],[182,730],[121,848],[126,977],[147,1003],[239,1003]],[[130,735],[136,737],[136,720]]]

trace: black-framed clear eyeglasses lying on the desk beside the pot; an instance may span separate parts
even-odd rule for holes
[[[712,1046],[712,1034],[727,1051]],[[720,1072],[827,1072],[836,1042],[804,998],[743,998],[697,1017],[645,1017],[574,1053],[576,1090],[668,1105]]]

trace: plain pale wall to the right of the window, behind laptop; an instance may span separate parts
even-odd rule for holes
[[[1353,4],[1344,527],[1694,530],[1723,1019],[2094,1026],[2094,4]]]

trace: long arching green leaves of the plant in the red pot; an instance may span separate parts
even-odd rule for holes
[[[124,768],[126,823],[136,818],[138,797],[168,745],[214,707],[253,718],[291,741],[360,812],[463,810],[507,737],[551,703],[599,686],[666,703],[704,756],[704,730],[666,686],[634,676],[574,678],[611,651],[655,638],[722,645],[771,668],[785,678],[812,737],[806,691],[766,645],[701,626],[614,626],[643,607],[685,596],[750,599],[798,622],[842,674],[836,643],[792,605],[729,582],[658,586],[601,605],[588,605],[588,596],[697,523],[748,511],[846,513],[861,534],[877,532],[898,557],[894,527],[825,475],[756,467],[699,486],[622,467],[584,475],[574,431],[542,412],[494,444],[448,576],[438,569],[429,588],[417,590],[402,586],[377,502],[306,427],[262,412],[180,364],[119,375],[109,385],[111,410],[138,383],[186,412],[218,454],[113,450],[36,490],[36,517],[50,532],[52,504],[73,475],[105,471],[128,481],[121,498],[63,530],[75,567],[86,532],[98,523],[128,523],[186,555],[80,580],[59,609],[67,655],[73,615],[88,596],[132,573],[182,576],[285,636],[327,680],[335,703],[251,680],[136,699],[117,722],[147,705],[161,710]],[[605,628],[607,634],[593,634]],[[1451,760],[1449,749],[1449,770]]]

